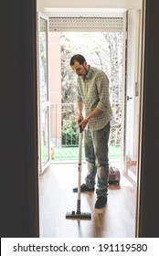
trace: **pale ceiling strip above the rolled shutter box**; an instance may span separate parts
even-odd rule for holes
[[[37,11],[47,16],[120,17],[126,9],[142,9],[143,0],[37,0]]]

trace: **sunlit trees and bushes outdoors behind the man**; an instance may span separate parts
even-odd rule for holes
[[[62,103],[76,104],[77,76],[69,69],[69,60],[80,53],[90,66],[102,69],[110,80],[113,111],[110,144],[121,144],[122,125],[122,33],[120,32],[62,32],[61,84]],[[62,111],[62,145],[77,144],[77,110]]]

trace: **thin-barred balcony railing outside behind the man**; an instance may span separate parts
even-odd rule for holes
[[[119,108],[119,104],[113,104],[113,109]],[[79,144],[79,132],[76,126],[78,116],[77,103],[51,104],[51,142],[54,146],[72,147]],[[121,144],[121,124],[111,123],[110,145]]]

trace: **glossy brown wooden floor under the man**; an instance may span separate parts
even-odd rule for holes
[[[81,181],[87,172],[82,165]],[[49,165],[39,176],[41,238],[133,238],[135,229],[135,182],[121,176],[119,186],[110,186],[106,208],[95,209],[96,193],[81,193],[81,212],[91,219],[66,219],[77,209],[78,164]]]

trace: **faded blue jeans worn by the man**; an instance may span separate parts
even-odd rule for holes
[[[109,158],[108,142],[111,125],[108,123],[99,131],[85,130],[84,148],[88,164],[88,174],[85,178],[88,187],[95,186],[97,175],[97,196],[107,197]]]

